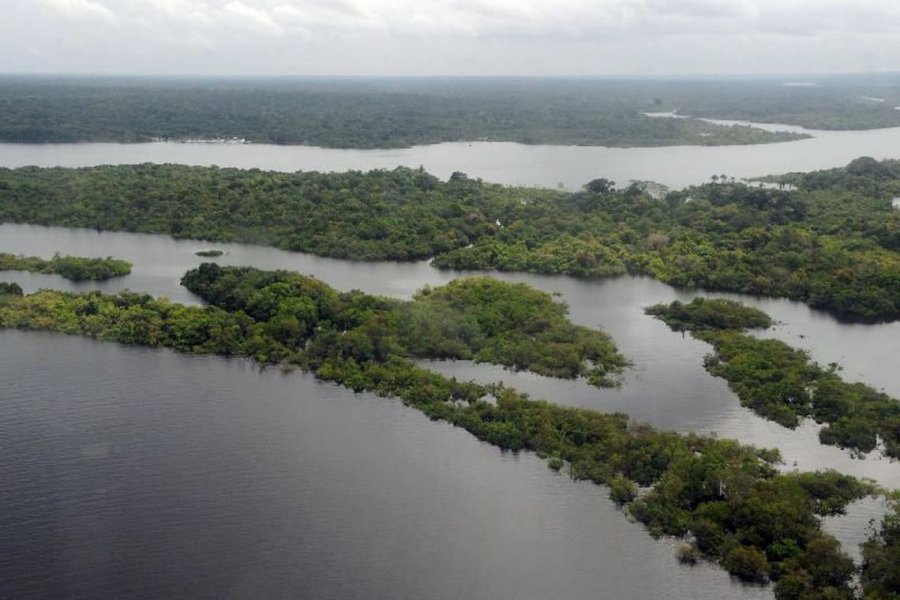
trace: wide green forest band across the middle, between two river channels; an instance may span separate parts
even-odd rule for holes
[[[439,268],[604,277],[900,316],[895,162],[860,158],[796,190],[714,182],[655,197],[606,179],[568,193],[421,169],[278,173],[177,165],[0,169],[0,221],[250,242]],[[802,183],[799,182],[798,183]]]

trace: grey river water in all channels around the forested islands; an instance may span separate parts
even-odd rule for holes
[[[877,132],[888,134],[900,139],[900,130]],[[479,172],[469,150],[459,152],[469,146],[460,145],[456,159],[463,164],[453,170],[497,181],[515,169],[524,177],[540,176],[526,174],[527,165],[515,166],[516,156],[486,150],[505,146],[473,145],[472,152],[490,159],[487,171]],[[163,159],[170,162],[191,162],[184,152],[223,165],[232,164],[220,160],[232,152],[235,160],[265,159],[252,154],[260,149],[254,146],[15,148],[19,153],[11,157],[10,148],[0,146],[0,164],[160,160],[146,154],[151,148],[170,152]],[[308,149],[262,148],[283,151],[284,162],[259,165],[268,168],[325,168],[289,167],[295,152],[310,152],[310,162],[327,162]],[[397,156],[412,157],[419,150],[358,152],[366,160],[381,157],[384,164],[352,166],[394,166]],[[745,147],[609,151],[674,156],[733,150],[756,152]],[[846,160],[878,155],[872,146],[858,150]],[[567,152],[587,157],[595,151],[606,149],[550,153],[552,161],[563,161]],[[34,160],[33,152],[43,162]],[[467,160],[476,168],[468,168]],[[495,177],[489,176],[492,168],[498,169]],[[711,170],[729,173],[721,162]],[[666,172],[675,177],[675,170]],[[563,183],[601,174],[572,173],[578,179]],[[678,185],[659,175],[635,178]],[[164,236],[0,225],[0,251],[112,255],[134,263],[128,277],[103,283],[73,284],[18,272],[0,273],[0,279],[17,281],[26,291],[129,288],[196,302],[178,279],[203,260],[194,252],[205,247]],[[339,289],[400,298],[460,275],[425,262],[366,263],[240,244],[215,247],[226,251],[216,259],[221,264],[291,269]],[[741,408],[725,383],[703,370],[705,344],[643,315],[648,304],[686,300],[698,292],[639,277],[496,276],[557,292],[575,322],[609,332],[634,362],[622,388],[597,390],[466,362],[431,368],[503,380],[564,404],[623,411],[667,429],[777,447],[786,469],[833,467],[900,487],[898,463],[854,459],[819,444],[812,424],[792,432]],[[807,348],[823,363],[841,362],[846,378],[900,396],[895,368],[900,323],[845,324],[795,302],[732,297],[779,321],[766,335]],[[0,332],[0,440],[5,457],[0,477],[7,489],[0,496],[2,597],[771,597],[770,588],[737,584],[716,567],[680,566],[673,543],[654,541],[629,523],[602,488],[574,483],[533,456],[500,452],[397,401],[352,394],[300,373],[259,370],[241,360]],[[880,510],[877,502],[859,503],[828,527],[845,543],[856,544]]]

